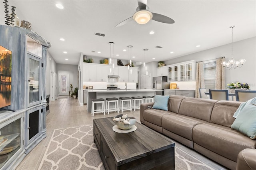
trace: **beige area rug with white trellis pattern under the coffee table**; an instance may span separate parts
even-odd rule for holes
[[[42,158],[41,170],[105,170],[93,143],[93,125],[55,129]],[[214,170],[175,147],[175,170]]]

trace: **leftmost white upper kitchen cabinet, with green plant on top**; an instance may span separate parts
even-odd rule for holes
[[[96,65],[84,63],[84,81],[96,81]]]

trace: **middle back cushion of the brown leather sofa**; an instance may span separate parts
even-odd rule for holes
[[[178,114],[210,122],[212,108],[216,100],[188,97],[180,103]]]

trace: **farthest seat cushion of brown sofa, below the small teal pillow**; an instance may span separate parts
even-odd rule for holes
[[[154,125],[162,127],[162,117],[163,115],[168,115],[172,112],[164,111],[160,109],[146,109],[143,112],[143,118],[145,121],[150,122]]]

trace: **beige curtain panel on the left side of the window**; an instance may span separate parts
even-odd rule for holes
[[[196,98],[200,98],[199,89],[204,86],[204,63],[199,61],[196,63]]]

